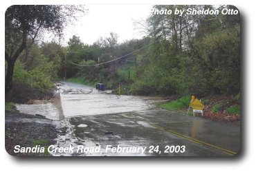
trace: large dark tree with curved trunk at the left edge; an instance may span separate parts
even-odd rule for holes
[[[76,12],[75,6],[10,6],[5,18],[6,93],[12,88],[15,62],[28,44],[44,31],[61,35],[66,21]]]

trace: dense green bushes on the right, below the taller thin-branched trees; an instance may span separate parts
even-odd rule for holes
[[[200,27],[203,25],[199,26],[198,36],[188,41],[188,51],[167,49],[165,44],[152,47],[151,51],[157,55],[149,58],[150,65],[134,84],[134,92],[184,95],[190,88],[196,88],[194,94],[200,96],[237,94],[240,89],[239,25],[223,30],[209,25],[213,28],[204,31]]]

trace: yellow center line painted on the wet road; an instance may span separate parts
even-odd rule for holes
[[[236,155],[236,154],[237,154],[237,153],[234,152],[234,151],[230,151],[230,150],[228,150],[228,149],[223,149],[223,148],[221,148],[221,147],[215,146],[215,145],[210,144],[210,143],[208,143],[208,142],[203,142],[203,141],[201,141],[201,140],[197,140],[197,139],[195,139],[195,138],[190,138],[189,136],[185,136],[185,135],[183,135],[183,134],[181,134],[181,133],[177,133],[176,131],[172,131],[171,129],[165,129],[165,128],[160,127],[160,126],[158,126],[158,125],[155,125],[155,124],[153,124],[153,123],[151,123],[150,125],[152,125],[152,127],[155,127],[156,129],[160,129],[161,131],[167,131],[167,132],[173,133],[174,135],[179,136],[179,137],[181,137],[181,138],[185,138],[186,140],[190,140],[191,142],[195,142],[195,143],[197,143],[197,144],[203,144],[203,145],[208,146],[208,147],[213,147],[213,148],[215,148],[215,149],[219,149],[220,151],[223,151],[223,153],[226,153],[226,154],[228,154],[228,155]]]

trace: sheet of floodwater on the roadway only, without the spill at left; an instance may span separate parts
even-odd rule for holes
[[[136,96],[116,96],[71,83],[62,84],[61,99],[65,117],[141,111],[152,107]]]

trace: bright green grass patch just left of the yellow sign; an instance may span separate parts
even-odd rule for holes
[[[179,98],[178,100],[174,100],[169,103],[163,103],[158,105],[158,107],[161,107],[163,109],[168,109],[168,110],[177,110],[177,109],[182,109],[184,107],[188,107],[190,104],[190,96],[184,96],[182,98]]]

